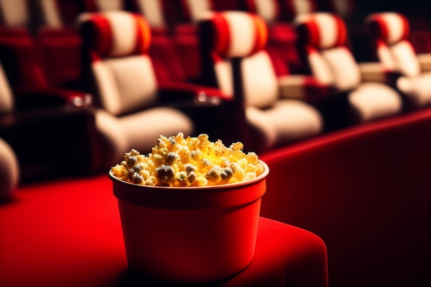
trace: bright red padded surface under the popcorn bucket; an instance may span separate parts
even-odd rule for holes
[[[160,286],[127,270],[107,175],[22,186],[14,195],[0,205],[1,286]],[[316,235],[260,218],[251,264],[202,286],[325,287],[326,256]]]

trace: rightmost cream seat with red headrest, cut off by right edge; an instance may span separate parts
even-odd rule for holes
[[[409,110],[431,104],[431,54],[416,54],[408,36],[408,19],[400,13],[381,12],[366,19],[375,54],[392,83],[406,97]]]

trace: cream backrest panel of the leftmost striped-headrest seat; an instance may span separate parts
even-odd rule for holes
[[[157,99],[156,76],[147,56],[98,61],[92,69],[102,105],[111,114],[119,116],[136,111]]]

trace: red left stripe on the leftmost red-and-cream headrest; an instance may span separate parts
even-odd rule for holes
[[[109,21],[100,14],[94,14],[92,22],[95,25],[94,48],[102,55],[108,54],[112,47],[112,30]]]

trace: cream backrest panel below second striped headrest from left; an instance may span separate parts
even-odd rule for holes
[[[277,76],[266,52],[257,52],[242,60],[242,85],[246,105],[269,107],[279,98]]]

